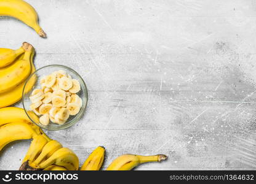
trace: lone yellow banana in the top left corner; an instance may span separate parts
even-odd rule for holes
[[[38,25],[38,13],[27,2],[22,0],[1,0],[0,16],[2,15],[17,18],[33,28],[39,36],[46,37],[46,33]]]

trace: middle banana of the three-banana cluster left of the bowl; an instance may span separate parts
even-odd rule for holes
[[[15,61],[14,64],[0,69],[0,93],[12,90],[17,85],[24,82],[28,75],[30,75],[30,58],[32,52],[33,47],[28,44],[28,47],[25,48],[23,59]]]

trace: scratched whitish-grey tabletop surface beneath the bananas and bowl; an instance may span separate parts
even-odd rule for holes
[[[98,145],[104,168],[123,153],[164,153],[152,169],[256,168],[256,2],[29,0],[47,33],[0,19],[0,47],[36,48],[36,67],[82,75],[82,120],[47,131],[79,156]],[[21,107],[21,104],[17,104]],[[1,169],[18,169],[30,141],[9,145]]]

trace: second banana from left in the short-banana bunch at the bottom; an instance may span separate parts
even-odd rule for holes
[[[36,158],[34,163],[42,163],[42,161],[48,159],[50,156],[52,156],[52,154],[54,154],[55,151],[59,150],[60,148],[62,148],[62,144],[60,144],[60,142],[58,142],[57,140],[50,140],[50,142],[48,142],[44,146],[44,148],[42,148],[40,155],[38,156],[38,158]]]

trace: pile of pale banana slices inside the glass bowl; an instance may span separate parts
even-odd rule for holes
[[[32,91],[30,109],[40,116],[42,125],[57,123],[62,125],[70,115],[76,115],[82,107],[82,99],[78,96],[80,83],[72,79],[65,71],[55,71],[42,77],[41,88]]]

